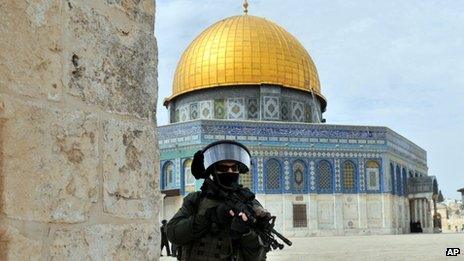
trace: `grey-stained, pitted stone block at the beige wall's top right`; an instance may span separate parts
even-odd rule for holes
[[[112,10],[99,1],[69,1],[67,93],[108,112],[144,119],[154,115],[157,47],[153,16],[141,11],[147,2],[106,1]]]

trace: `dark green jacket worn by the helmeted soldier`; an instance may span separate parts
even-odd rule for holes
[[[181,260],[213,261],[232,260],[234,256],[229,228],[218,228],[210,224],[205,211],[220,203],[218,200],[193,192],[184,198],[179,211],[168,222],[169,241],[182,248]],[[258,235],[251,229],[239,242],[237,260],[261,261],[266,259]]]

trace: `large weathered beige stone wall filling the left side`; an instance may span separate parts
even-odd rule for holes
[[[0,260],[159,256],[154,9],[0,2]]]

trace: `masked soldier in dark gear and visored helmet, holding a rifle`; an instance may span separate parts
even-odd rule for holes
[[[235,213],[207,186],[208,180],[222,190],[230,190],[250,166],[250,152],[238,142],[214,142],[195,153],[192,174],[205,179],[202,191],[184,198],[167,229],[169,240],[181,246],[180,260],[266,259],[266,250],[250,226],[250,217]],[[253,202],[253,208],[260,210],[256,213],[269,214],[256,200]]]

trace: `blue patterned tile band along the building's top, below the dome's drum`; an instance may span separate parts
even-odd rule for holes
[[[184,113],[181,113],[181,111]],[[189,108],[187,107],[188,111]],[[182,114],[186,114],[185,107],[181,109],[180,106],[179,118]],[[179,143],[188,143],[186,138],[198,133],[202,133],[202,139],[206,135],[213,137],[210,140],[214,140],[215,135],[223,135],[224,137],[241,136],[245,137],[244,139],[250,145],[258,146],[259,144],[263,149],[269,145],[284,146],[284,143],[289,143],[291,148],[287,149],[287,155],[290,155],[290,152],[293,155],[298,155],[301,152],[302,155],[306,153],[307,157],[378,158],[383,155],[379,152],[383,153],[388,149],[398,157],[406,158],[411,162],[410,164],[417,164],[419,168],[426,167],[425,153],[420,147],[407,139],[397,137],[397,134],[387,128],[374,126],[306,125],[288,122],[224,122],[214,120],[184,122],[159,128],[160,148],[163,151],[166,149],[174,151],[175,145],[187,146],[187,144]],[[179,141],[178,138],[181,137],[185,139]],[[286,139],[286,141],[283,139]],[[282,144],[279,144],[281,140]],[[279,149],[277,154],[283,155],[284,151]],[[366,176],[366,169],[364,168],[363,171]],[[388,177],[388,175],[385,175],[386,173],[388,173],[387,170],[384,170],[382,183],[384,182],[383,179]],[[368,184],[366,178],[364,180],[365,189]]]

